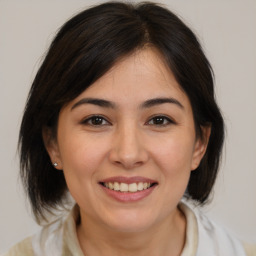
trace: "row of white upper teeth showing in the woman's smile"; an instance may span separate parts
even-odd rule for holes
[[[116,191],[121,191],[121,192],[137,192],[141,191],[144,189],[147,189],[150,187],[149,182],[139,182],[139,183],[119,183],[119,182],[104,182],[103,183],[105,187],[116,190]]]

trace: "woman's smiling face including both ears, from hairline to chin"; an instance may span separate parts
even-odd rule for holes
[[[153,49],[122,59],[65,106],[46,145],[82,220],[125,232],[175,219],[206,149],[188,97]]]

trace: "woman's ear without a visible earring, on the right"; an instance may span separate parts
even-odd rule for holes
[[[198,137],[196,140],[196,143],[195,143],[193,158],[192,158],[192,162],[191,162],[191,170],[192,171],[195,170],[199,166],[199,164],[206,152],[209,138],[211,135],[211,126],[210,125],[201,126],[200,128],[201,128],[202,136]]]

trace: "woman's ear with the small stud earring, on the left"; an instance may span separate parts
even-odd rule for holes
[[[59,146],[57,143],[57,139],[53,136],[52,130],[49,127],[44,127],[42,131],[44,146],[48,155],[51,159],[52,164],[57,163],[54,166],[58,170],[62,170],[62,161],[60,157]]]

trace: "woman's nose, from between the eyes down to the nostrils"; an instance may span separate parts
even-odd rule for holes
[[[148,161],[149,155],[143,136],[136,125],[118,127],[113,135],[110,161],[127,170],[139,167]]]

